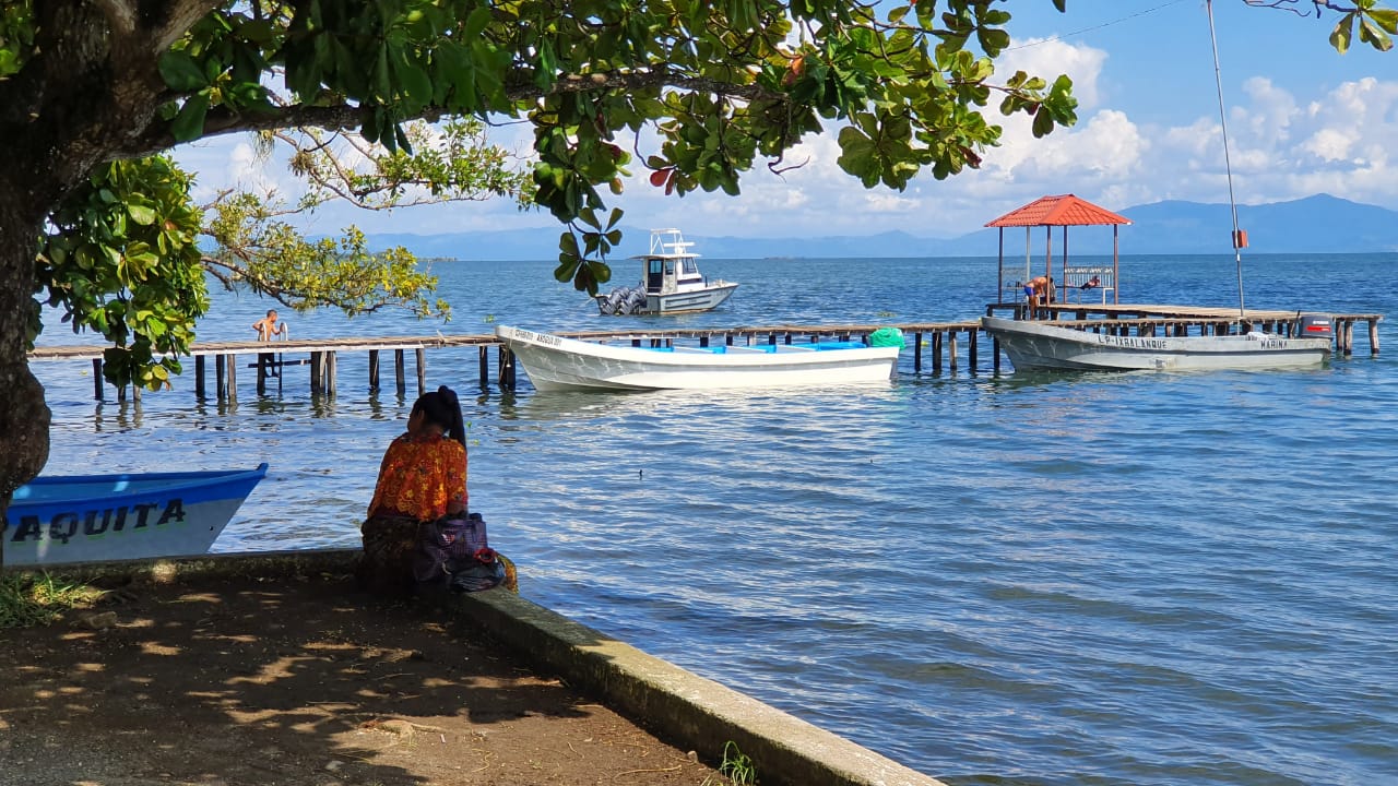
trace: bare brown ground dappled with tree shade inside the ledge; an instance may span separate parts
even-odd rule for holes
[[[0,785],[727,783],[347,573],[110,587],[55,625],[0,631]]]

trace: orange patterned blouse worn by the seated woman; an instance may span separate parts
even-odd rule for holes
[[[397,436],[383,453],[369,516],[397,513],[431,522],[445,516],[452,501],[466,509],[466,448],[440,435]]]

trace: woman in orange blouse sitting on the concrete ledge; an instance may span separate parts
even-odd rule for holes
[[[443,385],[418,397],[408,429],[383,453],[369,516],[359,527],[361,586],[383,594],[412,592],[419,530],[442,516],[466,512],[466,466],[461,403]]]

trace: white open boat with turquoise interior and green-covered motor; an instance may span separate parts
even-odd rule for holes
[[[630,347],[496,326],[535,390],[779,387],[888,382],[903,348],[898,329],[863,341],[755,347]],[[872,345],[884,343],[885,345]]]

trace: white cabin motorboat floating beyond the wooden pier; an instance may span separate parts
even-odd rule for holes
[[[738,285],[721,278],[709,281],[699,273],[692,245],[679,229],[651,229],[650,250],[632,257],[640,260],[640,284],[597,295],[597,309],[604,315],[689,313],[727,301]]]

